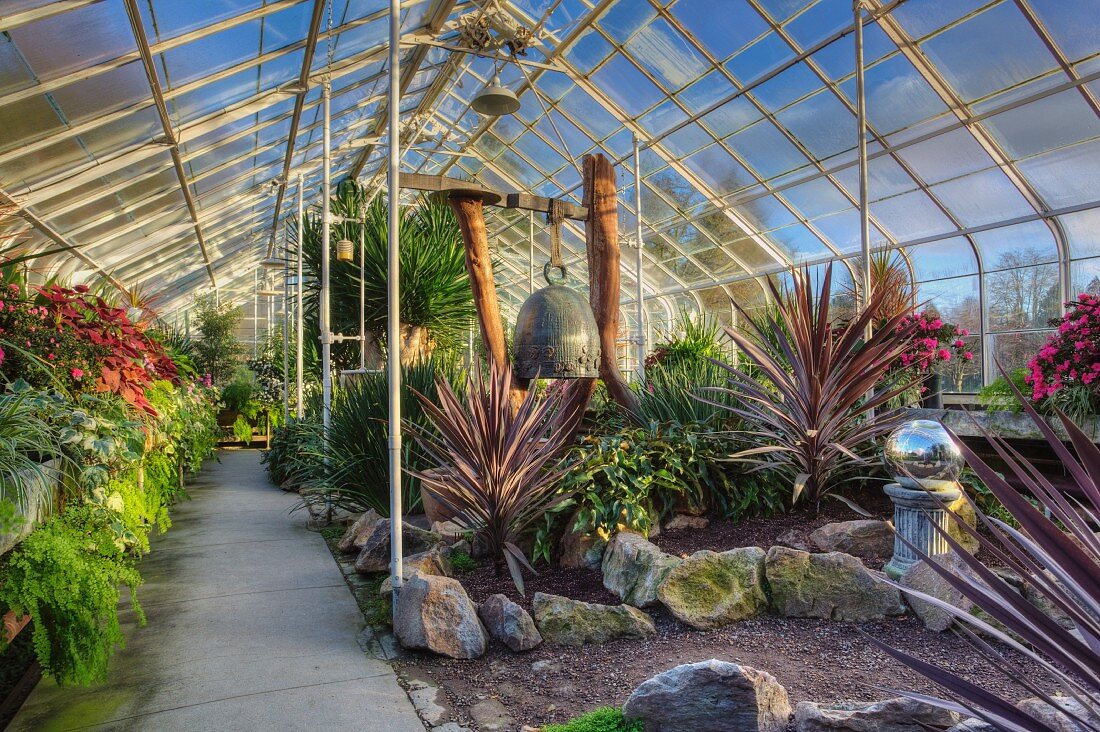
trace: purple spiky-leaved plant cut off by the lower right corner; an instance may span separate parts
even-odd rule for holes
[[[1019,392],[1016,396],[1020,397]],[[946,532],[941,534],[958,557],[963,571],[952,571],[946,562],[930,560],[924,555],[922,559],[985,615],[976,616],[924,593],[901,589],[950,613],[975,652],[989,662],[991,670],[1007,674],[1034,697],[1054,706],[1052,711],[1062,717],[1063,723],[1050,726],[1001,692],[881,642],[876,644],[948,691],[942,698],[903,692],[905,696],[977,717],[998,730],[1100,730],[1100,537],[1094,533],[1100,516],[1100,448],[1059,413],[1074,447],[1070,450],[1026,400],[1020,397],[1020,401],[1052,452],[1065,466],[1072,489],[1055,487],[1005,439],[983,429],[986,439],[1004,461],[1005,473],[1023,491],[1013,488],[965,443],[957,438],[955,441],[967,465],[1019,523],[1019,528],[980,512],[988,535],[979,535],[957,517],[956,523],[980,540],[992,564],[1023,578],[1028,597],[1005,581],[1003,572],[986,567]],[[1026,670],[1020,668],[985,637],[996,638],[1033,663]],[[1063,697],[1056,703],[1045,690],[1052,686],[1069,699]]]

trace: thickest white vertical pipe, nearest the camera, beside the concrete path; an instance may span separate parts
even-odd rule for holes
[[[400,303],[400,0],[389,0],[389,236],[386,275],[386,369],[389,375],[389,575],[394,611],[402,592],[402,324]]]

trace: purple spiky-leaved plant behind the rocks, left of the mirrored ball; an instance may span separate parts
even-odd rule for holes
[[[754,320],[734,303],[750,332],[727,328],[726,334],[750,368],[715,361],[727,385],[701,391],[704,401],[746,422],[743,436],[754,446],[733,455],[734,460],[751,465],[750,472],[783,473],[791,481],[792,503],[804,499],[820,507],[837,483],[867,465],[871,440],[904,418],[901,411],[884,407],[910,385],[887,379],[909,334],[900,326],[903,315],[897,315],[865,339],[884,293],[836,327],[829,319],[832,265],[817,293],[807,271],[792,272],[792,281],[789,292],[769,281],[779,306],[767,317]]]

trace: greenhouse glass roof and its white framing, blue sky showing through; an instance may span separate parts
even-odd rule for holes
[[[681,310],[728,323],[730,298],[765,305],[763,280],[791,265],[839,260],[858,278],[850,1],[402,8],[403,172],[580,203],[582,157],[618,164],[625,341],[652,343]],[[256,297],[257,266],[287,244],[298,186],[307,206],[320,199],[323,80],[333,181],[384,189],[387,10],[7,0],[4,256],[40,280],[162,293],[176,323],[217,291],[268,327],[278,308]],[[1033,354],[1065,302],[1100,292],[1100,2],[866,0],[861,18],[869,242],[900,252],[920,299],[969,330],[978,358],[947,387],[975,391],[998,362]],[[472,110],[494,76],[519,96],[515,114]],[[537,286],[549,228],[491,210],[512,315]],[[586,286],[579,223],[562,244]]]

